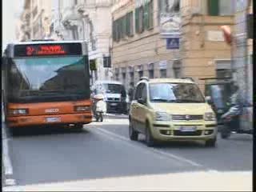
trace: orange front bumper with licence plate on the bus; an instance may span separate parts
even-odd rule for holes
[[[92,122],[92,114],[56,114],[38,116],[19,116],[7,118],[9,127],[46,126],[54,124],[86,124]]]

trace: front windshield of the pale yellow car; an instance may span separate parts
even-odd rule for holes
[[[198,86],[193,83],[152,83],[151,102],[205,102]]]

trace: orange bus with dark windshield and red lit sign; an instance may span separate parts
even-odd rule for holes
[[[70,126],[92,122],[86,42],[9,44],[2,59],[7,126]]]

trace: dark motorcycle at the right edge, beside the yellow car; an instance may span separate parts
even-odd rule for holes
[[[253,134],[252,129],[242,129],[240,125],[240,117],[242,115],[242,110],[237,105],[230,106],[225,114],[222,114],[221,121],[223,123],[221,129],[222,138],[230,138],[232,132],[237,134]]]

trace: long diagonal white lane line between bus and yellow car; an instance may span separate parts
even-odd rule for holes
[[[118,138],[122,141],[125,141],[126,143],[128,143],[130,146],[133,146],[133,147],[140,147],[142,148],[143,150],[149,150],[150,152],[153,152],[154,154],[160,154],[162,155],[162,157],[166,157],[166,158],[172,158],[172,159],[176,159],[178,160],[178,162],[186,162],[186,163],[189,163],[190,165],[192,166],[198,166],[198,167],[203,167],[201,164],[198,164],[197,162],[193,162],[187,158],[182,158],[182,157],[179,157],[177,155],[174,155],[174,154],[170,154],[170,153],[166,153],[166,152],[163,152],[161,150],[157,150],[157,149],[154,149],[154,148],[148,148],[146,146],[142,146],[142,145],[139,145],[138,143],[136,142],[130,142],[130,140],[128,138],[125,138],[121,135],[118,135],[118,134],[114,134],[113,132],[110,132],[108,130],[103,130],[102,128],[94,128],[93,130],[98,130],[98,131],[101,131],[102,133],[104,134],[108,134],[114,138]]]

